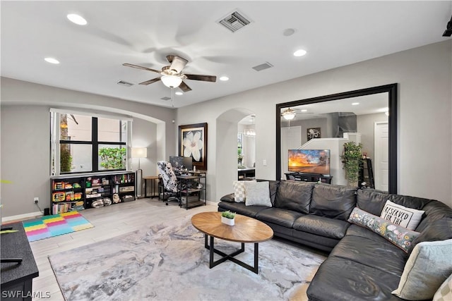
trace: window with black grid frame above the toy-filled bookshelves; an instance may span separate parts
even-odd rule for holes
[[[52,175],[127,169],[130,119],[51,112]]]

